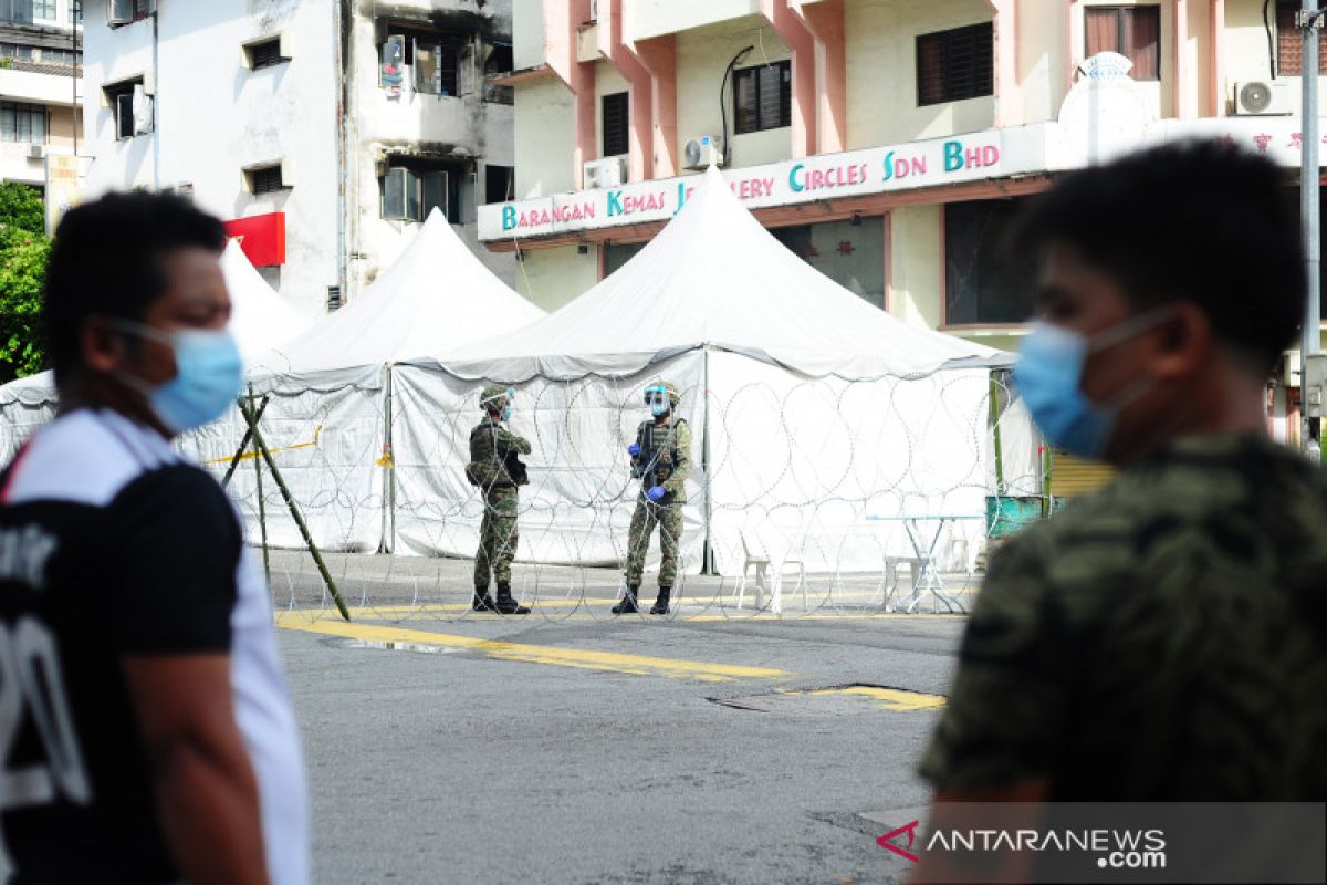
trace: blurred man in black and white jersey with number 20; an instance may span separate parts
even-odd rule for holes
[[[267,600],[224,494],[169,442],[239,390],[224,243],[216,219],[143,194],[76,208],[56,236],[61,414],[0,478],[0,827],[19,881],[307,876],[299,837],[280,847],[293,864],[264,854],[283,801],[268,758],[295,768],[284,812],[303,820]]]

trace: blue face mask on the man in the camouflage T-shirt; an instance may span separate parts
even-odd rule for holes
[[[1105,454],[1120,410],[1147,393],[1152,382],[1143,379],[1109,403],[1096,405],[1083,395],[1083,366],[1093,350],[1127,341],[1162,318],[1164,312],[1152,310],[1092,338],[1048,322],[1032,324],[1014,365],[1014,385],[1051,446],[1080,458]]]

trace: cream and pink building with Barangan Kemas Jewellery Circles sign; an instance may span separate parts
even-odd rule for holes
[[[1002,235],[1058,174],[1202,134],[1299,165],[1298,5],[514,0],[522,199],[483,207],[480,236],[556,308],[722,162],[771,232],[861,297],[1014,348],[1031,269]]]

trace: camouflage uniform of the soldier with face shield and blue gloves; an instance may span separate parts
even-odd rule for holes
[[[634,597],[645,571],[645,555],[649,553],[650,535],[654,527],[660,529],[660,600],[667,605],[669,592],[677,581],[677,552],[682,541],[682,506],[686,503],[686,478],[691,475],[691,429],[673,413],[678,403],[677,387],[665,382],[670,409],[660,421],[644,421],[636,429],[636,444],[641,447],[634,463],[649,472],[641,478],[641,490],[636,496],[636,512],[632,515],[632,528],[626,543],[626,586]],[[646,492],[652,486],[660,486],[666,495],[658,503],[652,502]],[[657,604],[658,605],[658,604]]]

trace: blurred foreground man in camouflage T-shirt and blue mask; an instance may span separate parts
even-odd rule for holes
[[[993,555],[921,763],[938,821],[1327,799],[1327,480],[1265,411],[1303,303],[1291,199],[1196,142],[1076,172],[1026,220],[1044,263],[1015,383],[1048,442],[1120,472]]]

